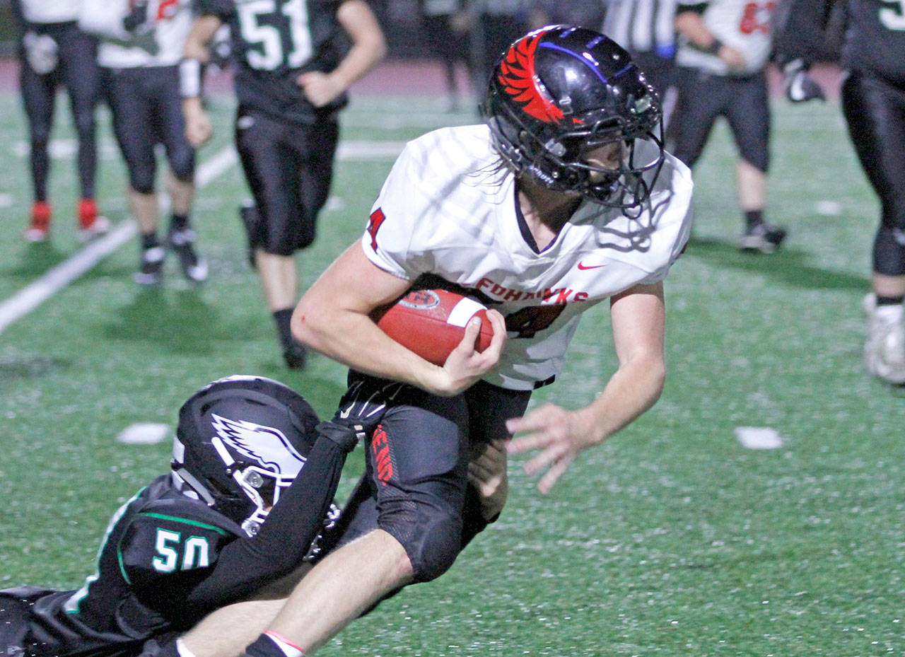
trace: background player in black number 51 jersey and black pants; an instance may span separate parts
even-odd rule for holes
[[[235,143],[254,197],[241,210],[243,224],[283,360],[304,367],[305,350],[290,330],[299,300],[294,253],[314,241],[329,195],[346,90],[383,59],[384,35],[364,0],[201,0],[199,7],[181,69],[187,135],[195,148],[211,136],[201,66],[214,34],[228,24],[239,100]]]

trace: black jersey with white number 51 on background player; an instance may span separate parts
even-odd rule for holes
[[[238,66],[239,104],[278,119],[313,123],[341,109],[341,94],[325,108],[305,98],[296,78],[307,71],[329,72],[345,52],[345,32],[337,20],[343,0],[200,0],[201,14],[230,26]]]

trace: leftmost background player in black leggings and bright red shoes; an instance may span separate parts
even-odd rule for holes
[[[76,163],[81,198],[76,212],[82,241],[106,233],[110,222],[98,214],[94,197],[97,166],[94,109],[100,72],[97,42],[81,32],[79,3],[56,0],[13,0],[13,18],[19,34],[19,86],[28,119],[33,205],[25,231],[28,242],[43,242],[50,232],[52,205],[47,195],[50,173],[48,142],[60,85],[69,94],[72,123],[78,139]]]

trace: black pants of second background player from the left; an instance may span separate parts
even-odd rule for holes
[[[176,178],[190,182],[195,174],[195,150],[186,139],[178,67],[105,69],[104,77],[113,131],[132,188],[142,194],[153,192],[157,144],[166,149]]]

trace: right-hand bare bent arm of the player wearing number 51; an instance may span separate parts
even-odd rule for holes
[[[364,0],[347,0],[339,5],[337,18],[352,40],[352,47],[333,71],[310,71],[298,78],[315,107],[327,105],[386,56],[384,33]]]

